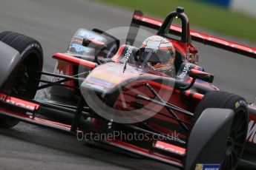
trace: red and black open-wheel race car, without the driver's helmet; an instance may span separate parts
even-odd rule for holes
[[[141,27],[174,46],[174,75],[140,62]],[[47,126],[178,169],[256,169],[256,106],[211,84],[192,40],[256,58],[254,48],[190,30],[183,7],[164,21],[135,10],[122,45],[102,30],[78,30],[68,51],[53,55],[53,73],[42,71],[38,41],[0,33],[0,126]],[[46,88],[50,97],[36,100]]]

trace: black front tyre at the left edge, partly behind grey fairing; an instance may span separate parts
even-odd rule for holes
[[[5,31],[0,33],[0,41],[13,47],[21,54],[22,63],[15,70],[15,79],[9,91],[10,95],[33,99],[36,95],[36,89],[39,81],[34,79],[41,78],[41,75],[33,70],[42,70],[42,46],[33,38],[19,33]],[[4,87],[5,89],[5,87]],[[19,120],[7,116],[0,116],[0,127],[10,128],[16,126]]]

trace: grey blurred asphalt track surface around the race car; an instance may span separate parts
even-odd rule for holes
[[[131,15],[129,10],[85,0],[1,0],[0,31],[24,33],[40,41],[45,52],[45,70],[53,71],[55,61],[50,56],[64,52],[77,29],[128,26]],[[256,60],[202,44],[196,46],[200,50],[200,64],[216,75],[215,85],[253,100]],[[84,146],[71,135],[19,123],[13,129],[0,129],[1,169],[172,168],[152,160]]]

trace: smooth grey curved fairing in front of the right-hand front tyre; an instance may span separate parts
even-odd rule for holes
[[[188,137],[186,170],[202,169],[202,166],[220,169],[233,118],[231,109],[203,111]]]

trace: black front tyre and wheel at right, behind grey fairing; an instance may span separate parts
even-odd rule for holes
[[[229,133],[228,141],[226,143],[222,169],[236,169],[240,157],[242,157],[246,143],[248,129],[248,109],[246,101],[244,98],[228,92],[208,92],[197,106],[194,117],[191,120],[191,127],[194,126],[194,123],[196,123],[203,110],[207,108],[234,110],[234,120],[232,123],[232,129]]]

